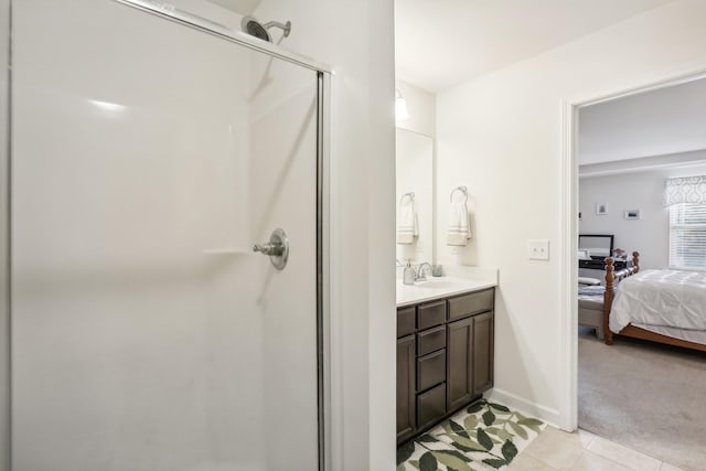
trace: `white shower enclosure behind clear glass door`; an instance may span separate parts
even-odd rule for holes
[[[329,72],[159,2],[12,20],[12,471],[323,469]]]

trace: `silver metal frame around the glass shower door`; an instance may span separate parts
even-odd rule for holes
[[[9,6],[9,13],[11,18],[12,3],[14,0],[6,0]],[[222,40],[238,44],[240,46],[267,54],[269,56],[286,61],[288,63],[299,65],[315,72],[317,74],[317,424],[318,424],[318,470],[327,471],[331,469],[331,360],[330,360],[330,330],[331,330],[331,315],[330,315],[330,120],[331,120],[331,86],[333,71],[330,66],[314,62],[308,57],[300,56],[298,54],[282,51],[278,46],[265,42],[263,40],[247,35],[240,31],[229,30],[227,26],[213,22],[205,18],[189,13],[175,9],[174,7],[163,3],[158,0],[113,0],[117,3],[141,10],[146,13],[160,17],[162,19],[182,24],[184,26],[199,30],[206,34],[220,38]],[[9,61],[8,67],[8,146],[7,146],[7,165],[9,170],[12,167],[12,142],[11,142],[11,129],[12,129],[12,24],[10,20],[9,24]],[[2,90],[0,90],[1,93]],[[11,300],[11,287],[12,279],[10,278],[12,259],[11,247],[12,240],[10,237],[12,215],[10,213],[11,203],[11,188],[10,173],[7,174],[7,191],[6,191],[6,208],[7,208],[7,245],[4,247],[7,264],[4,267],[7,276],[7,290],[8,299],[4,302],[8,309],[8,343],[7,349],[8,361],[6,362],[9,368],[9,377],[12,377],[12,357],[11,357],[11,324],[12,324],[12,300]],[[7,385],[8,394],[10,394],[10,382]],[[7,407],[8,417],[10,417],[12,408],[12,397],[10,395]],[[12,454],[12,424],[8,420],[9,440],[7,440],[8,459]],[[3,440],[4,441],[4,440]],[[0,452],[0,457],[3,453]],[[6,460],[3,460],[6,461]],[[0,462],[0,467],[2,463]]]

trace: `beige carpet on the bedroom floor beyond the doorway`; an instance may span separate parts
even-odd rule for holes
[[[706,354],[579,330],[578,425],[684,470],[706,469]]]

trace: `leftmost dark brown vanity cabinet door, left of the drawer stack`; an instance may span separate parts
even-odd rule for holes
[[[415,397],[416,354],[415,336],[397,341],[397,442],[415,431],[417,402]]]

